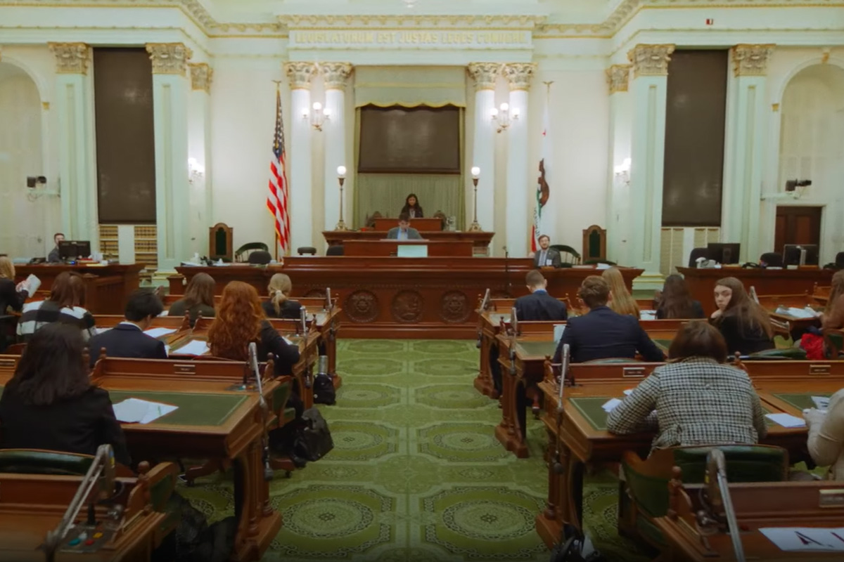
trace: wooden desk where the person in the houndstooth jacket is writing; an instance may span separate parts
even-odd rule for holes
[[[618,463],[625,450],[647,457],[651,448],[651,434],[616,436],[606,431],[607,414],[601,408],[611,398],[623,399],[626,388],[636,386],[658,363],[639,364],[575,364],[571,375],[575,386],[566,384],[563,414],[558,420],[555,408],[545,409],[542,420],[549,434],[547,457],[549,462],[548,506],[536,518],[537,532],[549,546],[560,540],[565,523],[582,528],[583,471],[587,463]],[[801,415],[790,400],[806,398],[784,397],[802,392],[807,395],[830,395],[844,383],[844,361],[745,361],[749,377],[754,382],[763,408],[770,413],[786,412]],[[630,367],[641,368],[630,377]],[[808,373],[812,379],[807,380]],[[557,404],[559,385],[546,371],[539,388],[548,404]],[[800,390],[802,389],[802,390]],[[810,400],[810,399],[809,399]],[[761,441],[784,447],[792,462],[807,458],[806,429],[785,428],[768,422],[768,436]],[[559,446],[559,459],[557,451]],[[555,459],[563,466],[560,474],[554,470]]]

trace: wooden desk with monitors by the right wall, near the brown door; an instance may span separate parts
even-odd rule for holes
[[[720,270],[678,267],[689,286],[691,297],[701,301],[708,317],[715,312],[715,282],[723,277],[736,277],[749,291],[756,288],[757,295],[796,295],[812,292],[814,284],[830,285],[832,270],[760,270],[741,267],[723,267]]]

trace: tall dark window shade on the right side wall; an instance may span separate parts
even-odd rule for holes
[[[664,227],[721,225],[727,71],[728,51],[674,51],[668,63]]]

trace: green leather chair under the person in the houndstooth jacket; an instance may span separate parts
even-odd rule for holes
[[[788,452],[770,445],[717,445],[671,447],[652,452],[642,460],[625,452],[621,468],[625,481],[619,486],[619,533],[661,549],[665,539],[653,520],[668,511],[668,482],[672,468],[682,470],[683,482],[700,484],[706,475],[706,455],[721,449],[727,460],[730,482],[780,482],[787,479]]]

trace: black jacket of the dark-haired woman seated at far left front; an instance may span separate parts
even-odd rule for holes
[[[76,398],[35,406],[24,404],[7,386],[0,397],[0,423],[0,447],[95,455],[97,447],[108,444],[118,463],[132,462],[111,399],[102,388],[91,387]]]

